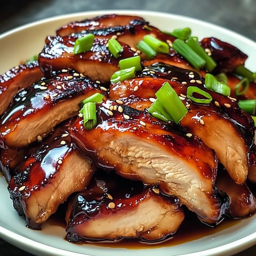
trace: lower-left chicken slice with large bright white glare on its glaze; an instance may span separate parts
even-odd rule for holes
[[[58,129],[15,170],[9,182],[14,209],[26,217],[27,227],[40,229],[60,204],[87,186],[93,172],[90,159]]]

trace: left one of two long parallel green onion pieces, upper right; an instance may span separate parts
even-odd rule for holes
[[[205,65],[205,60],[195,53],[185,42],[181,39],[175,39],[172,44],[173,50],[181,54],[195,69],[199,69]]]

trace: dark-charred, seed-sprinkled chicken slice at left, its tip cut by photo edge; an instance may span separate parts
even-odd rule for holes
[[[0,119],[2,147],[24,147],[42,140],[54,126],[77,115],[84,98],[104,93],[99,87],[75,71],[62,70],[19,91]]]

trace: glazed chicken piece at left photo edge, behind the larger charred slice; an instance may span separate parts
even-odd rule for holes
[[[43,77],[38,62],[19,65],[0,76],[0,115],[12,101],[12,97],[20,89],[26,88]]]

